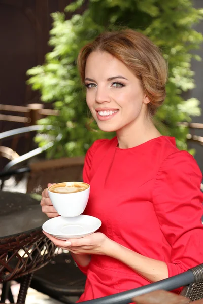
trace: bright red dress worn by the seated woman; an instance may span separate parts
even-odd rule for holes
[[[168,275],[203,262],[201,172],[172,137],[117,148],[117,138],[97,140],[87,151],[84,182],[91,185],[84,214],[102,221],[99,232],[144,256],[164,261]],[[79,302],[150,282],[124,263],[92,255]]]

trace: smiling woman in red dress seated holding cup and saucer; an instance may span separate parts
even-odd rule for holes
[[[116,131],[87,151],[85,214],[98,232],[61,241],[87,274],[79,301],[177,275],[203,262],[201,172],[152,117],[165,98],[167,66],[158,48],[130,29],[100,34],[78,57],[87,105],[98,127]],[[49,184],[50,185],[50,184]],[[43,191],[42,211],[58,214]],[[179,292],[180,290],[177,290]]]

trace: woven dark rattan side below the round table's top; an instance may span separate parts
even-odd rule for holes
[[[46,265],[58,248],[42,233],[24,233],[16,237],[1,238],[0,283],[21,277]]]

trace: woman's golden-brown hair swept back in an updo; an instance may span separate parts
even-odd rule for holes
[[[83,83],[87,58],[95,51],[110,53],[133,72],[150,100],[150,116],[154,116],[165,99],[167,81],[167,65],[158,47],[148,37],[132,29],[103,32],[86,44],[78,55],[77,65]]]

